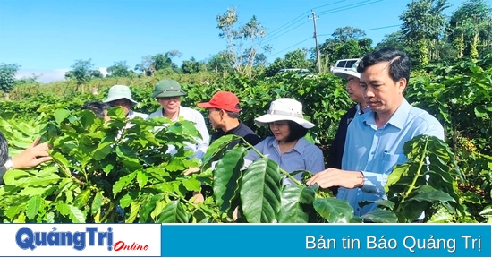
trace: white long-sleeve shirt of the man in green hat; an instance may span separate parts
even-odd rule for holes
[[[148,115],[147,120],[153,117],[161,117],[163,116],[163,114],[164,114],[164,109],[159,108],[156,112]],[[193,157],[203,159],[203,156],[205,155],[208,149],[208,142],[210,142],[210,135],[208,134],[207,125],[205,124],[205,118],[203,117],[203,115],[201,115],[201,113],[199,113],[199,111],[191,109],[189,107],[181,107],[181,106],[179,110],[179,116],[182,116],[184,120],[188,120],[195,123],[195,127],[201,134],[202,139],[196,138],[196,141],[198,142],[196,144],[188,142],[187,150],[191,150],[195,153]],[[178,121],[179,116],[178,118],[174,119],[174,122]],[[168,152],[174,154],[175,153],[174,146],[170,146]]]

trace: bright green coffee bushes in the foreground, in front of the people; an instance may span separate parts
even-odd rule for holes
[[[238,136],[214,142],[200,162],[189,159],[192,153],[183,148],[183,142],[193,142],[197,135],[191,122],[136,118],[129,125],[118,107],[109,116],[112,119],[105,123],[89,110],[55,109],[33,124],[2,120],[1,128],[9,130],[14,148],[24,148],[32,135],[41,133],[53,146],[54,161],[4,176],[0,219],[38,223],[410,222],[432,204],[448,214],[463,211],[454,184],[454,176],[461,175],[457,169],[457,173],[450,171],[453,154],[437,138],[421,136],[405,144],[409,161],[396,168],[386,190],[394,198],[379,202],[381,209],[359,218],[353,216],[348,202],[319,192],[317,185],[296,181],[263,155],[242,171],[247,151],[257,150],[240,145],[224,151]],[[177,150],[174,155],[167,152],[170,145]],[[427,171],[422,169],[426,156],[432,164]],[[201,173],[184,173],[198,166]],[[307,171],[293,173],[310,176]],[[427,182],[426,175],[449,180]],[[282,176],[296,185],[283,185]],[[204,203],[193,204],[189,193],[202,185],[212,187],[213,194]]]

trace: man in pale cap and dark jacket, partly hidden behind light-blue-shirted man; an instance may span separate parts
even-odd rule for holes
[[[351,68],[334,72],[336,76],[347,81],[345,89],[349,93],[350,99],[357,102],[357,104],[347,110],[345,115],[342,116],[342,119],[340,119],[340,124],[336,130],[335,138],[331,143],[327,157],[327,168],[342,168],[342,156],[344,156],[345,138],[347,136],[349,124],[354,116],[359,116],[370,111],[369,106],[364,99],[361,84],[359,83],[361,73],[357,72],[357,65],[359,65],[359,61],[353,64]],[[332,187],[330,189],[334,194],[338,192],[338,187]]]

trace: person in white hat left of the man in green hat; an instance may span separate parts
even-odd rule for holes
[[[132,119],[137,116],[145,119],[148,116],[147,114],[131,110],[131,107],[134,107],[139,103],[131,99],[131,90],[125,85],[115,85],[109,88],[109,91],[107,92],[107,99],[103,102],[108,103],[112,107],[123,107],[124,114],[128,119]]]

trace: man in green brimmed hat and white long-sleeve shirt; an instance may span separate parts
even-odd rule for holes
[[[186,92],[184,92],[181,85],[174,80],[165,79],[157,82],[154,92],[152,93],[152,98],[157,99],[157,102],[159,102],[162,108],[159,108],[156,112],[148,115],[147,119],[164,116],[173,121],[177,121],[179,117],[182,116],[183,119],[194,122],[202,139],[197,139],[198,143],[190,144],[189,147],[195,152],[194,157],[202,159],[205,152],[207,152],[210,135],[208,135],[205,118],[201,113],[189,107],[181,106],[181,96],[184,95],[186,95]]]

